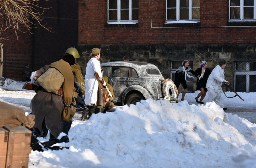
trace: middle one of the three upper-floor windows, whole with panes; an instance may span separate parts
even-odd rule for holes
[[[200,0],[166,0],[166,22],[191,21],[199,22]],[[177,22],[175,22],[177,23]]]

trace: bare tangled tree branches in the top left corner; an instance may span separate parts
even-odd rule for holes
[[[12,28],[18,37],[18,32],[25,33],[22,27],[25,27],[30,34],[32,34],[32,28],[36,28],[38,25],[50,31],[50,27],[46,27],[46,24],[42,24],[43,18],[41,17],[44,8],[39,6],[40,0],[0,0],[0,9],[2,17],[6,21],[6,28],[1,29],[5,31],[7,28]],[[40,11],[41,10],[41,11]]]

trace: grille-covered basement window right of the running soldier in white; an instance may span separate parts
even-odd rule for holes
[[[235,62],[234,68],[236,92],[256,92],[256,62]]]

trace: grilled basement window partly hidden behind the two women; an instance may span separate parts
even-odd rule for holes
[[[182,61],[170,61],[170,65],[171,65],[171,72],[170,72],[170,76],[172,81],[175,81],[175,72],[178,69],[179,66],[181,66]],[[191,69],[193,69],[193,62],[189,62],[189,66]],[[190,74],[191,75],[191,74]],[[191,75],[194,76],[194,75]],[[187,78],[187,91],[188,92],[193,92],[193,78]],[[176,86],[177,88],[179,86]]]

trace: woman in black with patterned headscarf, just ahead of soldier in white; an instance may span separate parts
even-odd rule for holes
[[[206,89],[206,82],[211,74],[211,70],[207,68],[207,62],[206,60],[203,60],[201,63],[201,68],[197,68],[195,71],[197,73],[197,90],[200,90],[201,92],[197,95],[196,102],[203,104],[203,99],[206,95],[207,89]],[[201,96],[200,101],[198,101],[199,97]]]

